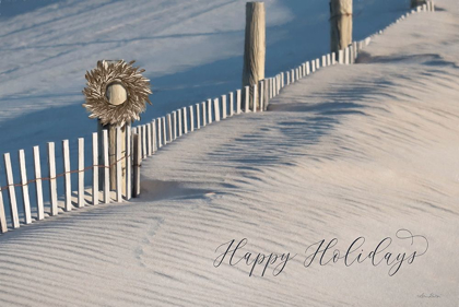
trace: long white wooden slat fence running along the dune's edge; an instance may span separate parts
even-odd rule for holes
[[[422,7],[412,10],[410,13],[402,15],[395,23],[407,19],[409,15],[434,11],[435,7],[432,1]],[[391,26],[391,25],[389,25]],[[382,34],[379,31],[375,35]],[[163,117],[158,117],[149,123],[141,125],[134,128],[127,127],[126,139],[121,140],[120,129],[117,129],[117,149],[116,149],[116,189],[110,190],[109,186],[109,155],[108,155],[108,133],[103,130],[102,133],[102,151],[103,164],[99,165],[99,149],[98,149],[98,134],[92,134],[92,157],[91,166],[85,167],[84,155],[84,139],[78,140],[78,168],[70,168],[70,147],[69,141],[63,140],[61,144],[62,150],[62,164],[63,173],[56,174],[56,144],[49,142],[47,144],[47,165],[40,164],[40,147],[33,147],[34,161],[34,176],[28,179],[26,169],[26,161],[24,150],[17,153],[19,168],[20,168],[20,182],[14,182],[13,169],[10,153],[3,155],[5,181],[7,186],[1,187],[0,190],[0,233],[5,233],[10,229],[19,228],[22,224],[31,224],[35,221],[40,221],[49,216],[56,216],[63,212],[72,211],[73,209],[83,208],[85,205],[97,205],[99,203],[109,203],[111,201],[122,202],[130,200],[133,196],[140,192],[140,164],[141,161],[152,156],[163,146],[174,142],[178,138],[193,131],[203,129],[204,127],[225,120],[233,116],[248,114],[248,113],[262,113],[266,111],[272,98],[278,96],[282,88],[296,83],[298,80],[316,72],[319,69],[339,64],[352,64],[357,59],[358,54],[367,46],[372,35],[364,40],[354,42],[344,50],[340,50],[337,55],[327,54],[321,58],[311,61],[306,61],[298,67],[281,72],[273,78],[268,78],[255,84],[252,88],[246,86],[243,90],[231,92],[227,95],[222,95],[219,98],[208,99],[200,104],[188,107],[183,107]],[[251,90],[251,91],[250,91]],[[244,91],[244,93],[243,93]],[[250,104],[250,92],[252,93],[252,103]],[[244,94],[244,95],[243,95]],[[244,99],[244,102],[243,102]],[[257,108],[257,103],[259,108]],[[250,107],[251,105],[251,107]],[[126,152],[121,154],[121,141],[126,141]],[[121,180],[121,163],[126,161],[126,187],[122,187]],[[48,177],[43,177],[43,169],[47,169]],[[99,172],[102,169],[102,172]],[[91,187],[85,186],[85,174],[91,172]],[[98,186],[101,175],[103,187]],[[71,180],[71,174],[78,174],[76,189],[74,190]],[[63,199],[58,199],[58,180],[63,180],[64,194]],[[47,182],[49,189],[49,197],[45,201],[44,197],[44,182]],[[62,182],[61,182],[62,184]],[[31,185],[35,186],[35,193],[30,192]],[[21,190],[22,194],[22,210],[23,215],[20,219],[16,200],[16,188]],[[125,193],[122,190],[125,188]],[[8,206],[3,199],[3,191],[8,193]],[[34,200],[31,202],[31,199]],[[31,203],[34,204],[32,208]],[[46,204],[46,205],[45,205]],[[45,206],[48,206],[45,212]],[[10,219],[7,219],[7,209],[10,212]],[[34,209],[34,210],[32,210]],[[34,213],[34,214],[33,214]]]

